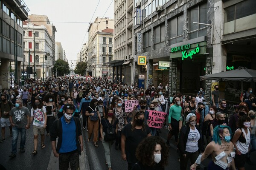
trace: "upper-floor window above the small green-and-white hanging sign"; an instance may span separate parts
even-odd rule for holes
[[[165,41],[165,26],[164,24],[154,28],[154,47],[155,49],[163,48]]]

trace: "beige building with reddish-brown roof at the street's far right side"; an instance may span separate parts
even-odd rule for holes
[[[113,59],[113,19],[96,18],[88,29],[88,75],[112,76],[108,62]]]

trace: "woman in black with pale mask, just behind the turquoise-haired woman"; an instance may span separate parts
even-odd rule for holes
[[[207,144],[212,141],[210,125],[212,121],[215,119],[215,113],[217,112],[217,108],[215,106],[211,106],[209,109],[209,113],[204,117],[202,135],[206,136]]]

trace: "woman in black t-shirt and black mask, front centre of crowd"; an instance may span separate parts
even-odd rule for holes
[[[127,160],[128,170],[137,162],[135,152],[140,142],[147,136],[151,136],[151,130],[144,123],[144,112],[136,111],[133,114],[132,121],[125,125],[122,130],[121,150],[122,159]]]

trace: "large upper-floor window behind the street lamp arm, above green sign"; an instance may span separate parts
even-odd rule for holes
[[[207,3],[191,8],[189,11],[189,39],[206,36],[207,26],[197,23],[207,24]]]

